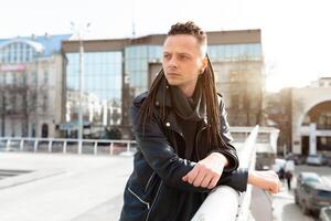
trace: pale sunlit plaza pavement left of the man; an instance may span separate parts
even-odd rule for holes
[[[32,170],[0,180],[1,221],[118,220],[132,158],[0,152],[0,168]]]

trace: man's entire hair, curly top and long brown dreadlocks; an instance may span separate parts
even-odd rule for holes
[[[168,35],[175,35],[175,34],[192,34],[199,39],[201,39],[202,42],[206,43],[206,34],[196,27],[193,22],[186,22],[186,23],[177,23],[171,27]],[[207,57],[207,56],[206,56]],[[224,140],[221,136],[221,118],[220,118],[220,105],[218,105],[218,95],[215,87],[215,76],[213,67],[210,63],[210,60],[207,57],[207,67],[204,70],[204,73],[199,77],[197,84],[202,84],[204,87],[204,93],[206,97],[206,117],[207,117],[207,145],[209,147],[204,147],[207,149],[214,149],[214,148],[223,148],[226,146]],[[154,109],[154,102],[157,97],[157,93],[159,91],[159,87],[162,85],[161,82],[164,80],[164,72],[163,69],[159,72],[157,77],[154,78],[151,87],[149,88],[149,93],[145,99],[145,102],[141,105],[140,112],[139,112],[139,124],[142,124],[142,127],[145,128],[146,122],[150,120],[152,118],[153,109]],[[166,108],[164,106],[161,107],[160,117],[162,120],[166,118]],[[212,146],[216,145],[216,146]]]

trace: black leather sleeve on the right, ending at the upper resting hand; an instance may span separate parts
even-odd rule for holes
[[[221,137],[225,143],[226,147],[218,148],[213,151],[221,152],[227,158],[228,166],[224,168],[224,171],[234,171],[238,168],[239,160],[235,147],[231,144],[233,141],[233,137],[231,136],[228,130],[229,126],[226,119],[227,113],[221,95],[218,95],[218,103],[220,103]]]

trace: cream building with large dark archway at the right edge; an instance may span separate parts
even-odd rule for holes
[[[292,90],[292,151],[331,156],[331,77]]]

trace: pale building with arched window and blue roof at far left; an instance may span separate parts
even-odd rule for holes
[[[58,137],[64,120],[61,41],[70,35],[0,39],[0,134]]]

